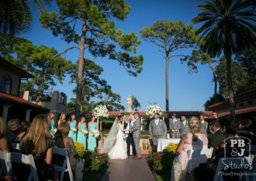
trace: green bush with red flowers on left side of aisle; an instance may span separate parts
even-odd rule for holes
[[[108,154],[86,151],[83,159],[84,168],[87,168],[89,173],[101,173],[106,168],[109,157]]]

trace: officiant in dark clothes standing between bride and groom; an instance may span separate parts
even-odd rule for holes
[[[124,123],[124,127],[125,129],[125,133],[124,133],[124,138],[126,139],[126,143],[127,143],[127,156],[129,157],[131,154],[131,146],[132,146],[132,155],[136,156],[136,151],[135,151],[135,147],[134,147],[134,141],[132,138],[132,133],[131,131],[129,131],[129,129],[132,129],[133,127],[133,122],[132,122],[132,118],[131,117],[127,117],[127,121],[125,121]]]

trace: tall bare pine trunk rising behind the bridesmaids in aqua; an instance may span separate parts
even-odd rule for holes
[[[75,115],[76,120],[80,119],[81,105],[82,105],[82,91],[83,91],[83,68],[84,68],[84,36],[86,34],[86,24],[83,21],[83,30],[79,46],[79,60],[78,60],[78,74],[77,74],[77,89],[76,89],[76,107]]]

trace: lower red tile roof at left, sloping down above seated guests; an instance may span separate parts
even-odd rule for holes
[[[1,105],[15,105],[15,106],[22,106],[24,108],[31,108],[36,110],[44,110],[49,111],[48,108],[45,108],[43,106],[36,105],[35,103],[31,103],[30,101],[27,101],[25,99],[5,94],[3,92],[0,92],[0,103]]]

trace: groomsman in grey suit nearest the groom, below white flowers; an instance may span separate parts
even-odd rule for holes
[[[165,138],[166,136],[166,124],[163,120],[159,119],[159,116],[155,113],[154,119],[150,121],[148,129],[149,134],[152,136],[154,151],[156,151],[158,138]]]

